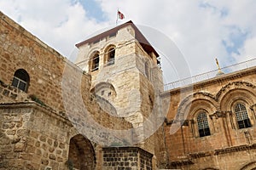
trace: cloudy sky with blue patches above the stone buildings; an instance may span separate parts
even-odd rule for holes
[[[255,0],[0,0],[4,14],[67,58],[75,43],[114,26],[117,8],[125,14],[119,24],[132,20],[169,38],[191,75],[215,70],[216,57],[221,66],[256,57]],[[170,68],[182,68],[170,55],[163,54]],[[168,65],[165,82],[180,78]]]

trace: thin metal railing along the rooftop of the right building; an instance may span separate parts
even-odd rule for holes
[[[256,58],[238,63],[236,65],[230,65],[230,66],[223,67],[223,68],[221,68],[221,71],[223,71],[224,74],[227,74],[227,73],[231,73],[234,71],[241,71],[243,69],[247,69],[247,68],[253,67],[255,65],[256,65]],[[188,78],[184,78],[182,80],[178,80],[176,82],[167,83],[167,84],[165,84],[164,89],[165,89],[165,91],[167,91],[167,90],[171,90],[173,88],[181,88],[181,87],[187,86],[189,84],[205,81],[205,80],[211,79],[213,77],[217,77],[217,76],[218,76],[218,70],[209,71],[206,73],[196,75],[194,77],[188,77]]]

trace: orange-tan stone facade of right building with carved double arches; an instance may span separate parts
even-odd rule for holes
[[[182,169],[241,169],[255,159],[256,68],[173,89],[165,123],[166,166]],[[238,128],[234,105],[243,102],[252,127]],[[207,113],[210,135],[200,137],[196,116]],[[176,116],[176,117],[175,117]],[[176,119],[175,119],[176,118]],[[177,126],[177,132],[172,128]],[[236,158],[235,158],[236,157]],[[241,160],[241,161],[238,161]]]

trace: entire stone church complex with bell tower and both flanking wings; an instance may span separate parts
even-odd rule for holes
[[[255,169],[256,67],[164,89],[131,21],[75,64],[0,13],[0,169]]]

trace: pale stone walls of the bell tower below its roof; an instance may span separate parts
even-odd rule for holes
[[[160,114],[157,107],[160,107],[158,94],[163,88],[162,74],[155,54],[146,52],[141,42],[135,39],[138,32],[135,34],[132,26],[120,27],[113,37],[109,37],[107,31],[103,33],[104,37],[92,38],[96,42],[89,39],[79,43],[76,62],[85,72],[90,72],[91,88],[96,94],[113,105],[117,116],[124,116],[127,122],[132,123],[131,142],[154,154],[158,136],[153,133],[158,128],[155,122]],[[104,63],[109,47],[115,49],[113,65]],[[90,71],[95,53],[99,54],[99,67]],[[111,89],[104,88],[103,83]],[[106,95],[109,92],[110,95]],[[148,120],[149,116],[151,120]]]

